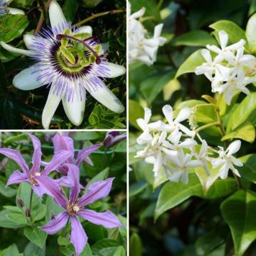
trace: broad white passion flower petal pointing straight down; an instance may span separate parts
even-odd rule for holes
[[[85,97],[82,97],[82,100],[80,99],[78,88],[75,87],[74,89],[73,101],[70,100],[70,102],[68,102],[68,100],[63,97],[62,102],[65,114],[67,114],[70,122],[77,126],[80,125],[85,114]]]

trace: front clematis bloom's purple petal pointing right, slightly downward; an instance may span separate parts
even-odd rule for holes
[[[122,223],[118,220],[117,216],[114,215],[110,210],[105,213],[97,213],[94,210],[80,210],[78,215],[85,220],[90,221],[95,225],[102,225],[105,228],[116,228],[122,227]]]

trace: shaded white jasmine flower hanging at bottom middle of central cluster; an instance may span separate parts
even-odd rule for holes
[[[166,177],[170,181],[178,182],[179,180],[182,183],[188,183],[188,170],[201,166],[201,161],[192,160],[192,154],[184,154],[181,150],[178,152],[178,156],[171,157],[171,165],[166,166]]]

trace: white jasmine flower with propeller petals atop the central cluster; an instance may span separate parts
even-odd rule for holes
[[[174,110],[170,105],[165,105],[163,107],[164,116],[167,119],[168,124],[166,124],[167,132],[174,132],[176,134],[177,130],[181,130],[183,133],[187,134],[190,137],[193,137],[195,132],[191,131],[180,122],[188,119],[191,115],[191,110],[188,107],[184,107],[179,113],[178,117],[174,120]],[[170,137],[171,138],[171,137]]]

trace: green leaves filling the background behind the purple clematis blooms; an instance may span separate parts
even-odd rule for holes
[[[65,135],[67,136],[67,133]],[[41,149],[43,152],[43,161],[50,161],[53,156],[53,144],[51,139],[53,132],[33,132],[38,139],[41,140]],[[73,137],[76,151],[83,149],[91,144],[103,142],[105,132],[70,132],[70,137]],[[26,133],[21,132],[4,132],[1,136],[2,147],[10,147],[21,151],[21,154],[26,163],[31,162],[33,154],[33,144]],[[126,225],[127,216],[127,162],[126,162],[126,140],[120,142],[111,149],[106,149],[104,146],[97,149],[90,155],[94,166],[89,166],[83,163],[80,166],[80,183],[83,186],[102,181],[108,177],[115,177],[110,196],[100,201],[92,203],[90,206],[96,211],[105,211],[110,209],[119,216],[119,220]],[[18,206],[17,198],[21,198],[24,203],[29,201],[31,191],[27,183],[20,185],[6,186],[6,181],[13,171],[18,169],[18,166],[11,159],[6,159],[0,156],[0,255],[1,256],[55,256],[55,255],[73,255],[73,246],[69,240],[59,232],[55,235],[46,235],[39,232],[37,226],[42,226],[46,220],[50,220],[51,215],[60,213],[60,207],[49,196],[43,196],[43,201],[40,201],[36,194],[33,195],[33,201],[36,201],[36,206],[32,210],[32,216],[36,221],[32,235],[29,235],[29,226],[24,224],[24,214],[17,213],[14,210]],[[58,175],[53,171],[53,175]],[[52,176],[52,175],[51,175]],[[22,192],[21,192],[22,191]],[[13,206],[11,208],[10,206]],[[24,207],[26,208],[26,206]],[[16,213],[16,218],[12,219],[10,215]],[[17,214],[19,218],[17,218]],[[6,215],[9,218],[6,218]],[[21,216],[20,216],[21,215]],[[23,218],[21,218],[23,217]],[[89,238],[87,247],[82,255],[85,256],[124,256],[124,250],[127,248],[127,231],[126,228],[107,229],[102,226],[93,225],[87,221],[82,223],[85,232]],[[35,230],[36,229],[36,230]],[[115,254],[116,253],[116,254]]]

